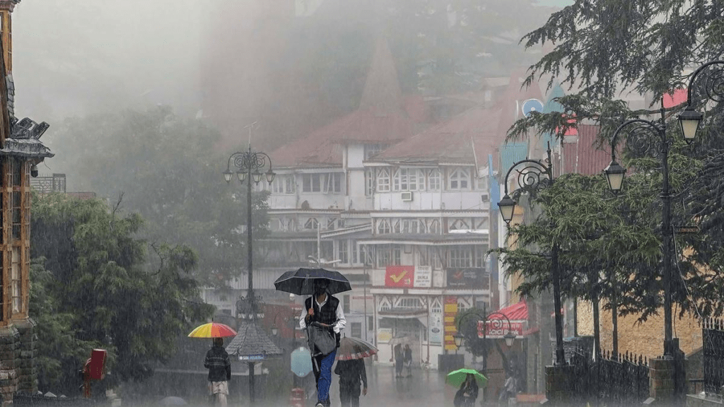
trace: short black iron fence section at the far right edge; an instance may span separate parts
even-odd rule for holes
[[[707,319],[702,324],[704,392],[724,395],[724,321]]]

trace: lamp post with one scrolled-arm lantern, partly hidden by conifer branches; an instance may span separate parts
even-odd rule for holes
[[[524,159],[516,162],[508,169],[505,175],[505,196],[500,200],[500,216],[505,224],[510,227],[510,221],[513,220],[515,212],[515,201],[508,195],[508,181],[510,174],[517,172],[518,186],[530,187],[546,187],[555,182],[553,177],[553,164],[551,161],[550,143],[547,148],[547,159],[545,162],[532,159]],[[560,301],[560,267],[558,264],[558,251],[560,250],[557,243],[553,243],[551,248],[550,272],[553,280],[553,306],[555,307],[555,364],[565,365],[565,353],[563,351],[563,314],[561,314]]]

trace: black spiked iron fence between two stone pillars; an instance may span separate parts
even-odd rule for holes
[[[633,406],[649,397],[649,366],[643,356],[612,355],[598,358],[576,351],[571,356],[573,401],[597,406]]]

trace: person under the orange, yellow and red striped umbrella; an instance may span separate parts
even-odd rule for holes
[[[236,336],[236,331],[228,325],[211,322],[196,327],[188,336],[213,338],[211,349],[206,352],[206,358],[203,359],[203,367],[209,369],[209,395],[219,406],[227,407],[231,358],[224,349],[224,337]]]

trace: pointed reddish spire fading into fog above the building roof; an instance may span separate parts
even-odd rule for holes
[[[402,90],[395,60],[387,40],[379,38],[367,72],[360,109],[369,109],[384,116],[400,112],[402,105]]]

